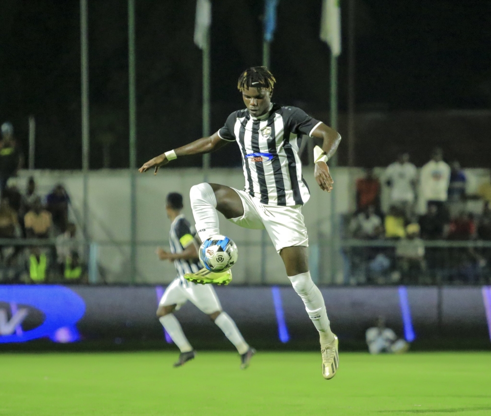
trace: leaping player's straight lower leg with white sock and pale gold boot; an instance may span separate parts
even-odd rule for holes
[[[281,250],[280,256],[293,289],[299,294],[309,318],[319,331],[322,375],[329,380],[334,377],[339,366],[338,339],[331,331],[324,297],[310,277],[307,247],[285,247]]]

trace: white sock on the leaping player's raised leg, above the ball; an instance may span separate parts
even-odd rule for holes
[[[192,215],[196,222],[196,231],[201,241],[215,234],[218,230],[217,198],[209,183],[200,183],[191,187],[189,192],[191,198]]]

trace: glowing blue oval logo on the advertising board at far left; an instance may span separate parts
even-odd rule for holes
[[[45,337],[61,343],[80,339],[76,323],[85,314],[85,302],[68,288],[0,286],[0,303],[0,343],[23,343]],[[44,319],[37,327],[24,330],[22,323],[33,310],[41,312]]]

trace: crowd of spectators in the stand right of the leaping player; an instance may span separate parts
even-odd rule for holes
[[[349,221],[348,237],[394,244],[353,249],[353,268],[384,282],[430,279],[434,283],[437,274],[447,281],[475,281],[479,269],[488,265],[489,248],[438,245],[442,240],[491,240],[491,186],[480,187],[484,208],[475,215],[466,209],[466,181],[460,164],[454,161],[449,166],[440,148],[419,175],[407,153],[400,154],[380,178],[367,170],[356,182],[357,210]],[[388,187],[385,210],[381,207],[383,186]]]

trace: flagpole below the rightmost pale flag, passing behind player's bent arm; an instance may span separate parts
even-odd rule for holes
[[[331,51],[331,73],[330,73],[330,124],[331,127],[337,129],[338,119],[338,104],[337,104],[337,57]],[[331,158],[329,167],[331,174],[337,167],[337,154]],[[331,283],[334,283],[337,273],[337,252],[339,248],[339,235],[336,215],[336,185],[331,191]]]

